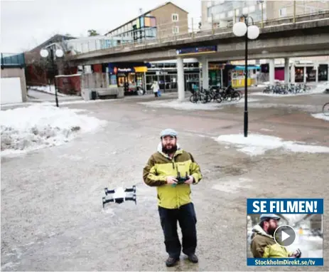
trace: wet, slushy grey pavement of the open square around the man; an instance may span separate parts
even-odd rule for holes
[[[291,141],[329,147],[329,122],[311,115],[327,98],[315,94],[251,102],[280,100],[281,105],[249,108],[249,135],[278,137],[280,146]],[[92,132],[77,133],[63,145],[1,156],[2,271],[166,271],[156,189],[142,180],[142,169],[165,127],[178,130],[180,145],[193,154],[204,176],[192,187],[200,262],[191,264],[182,256],[170,271],[254,270],[245,261],[247,197],[323,197],[328,203],[328,153],[280,147],[250,156],[239,150],[243,142],[216,140],[243,132],[239,106],[243,103],[189,111],[137,103],[150,100],[155,98],[71,103],[58,109],[60,113],[54,110],[53,118],[40,111],[41,117],[22,117],[26,130],[19,131],[23,132],[30,132],[33,124],[44,124],[43,117],[51,127],[63,129],[73,124],[90,127],[97,120],[107,123]],[[312,110],[286,105],[311,105]],[[19,124],[18,118],[11,122],[7,114],[1,125]],[[66,117],[69,126],[64,125]],[[26,119],[31,120],[23,122]],[[134,184],[136,205],[107,204],[102,209],[104,187]],[[328,216],[323,216],[324,232],[328,223]],[[327,241],[324,244],[328,247]],[[321,269],[328,271],[328,264]],[[303,267],[307,270],[314,268]]]

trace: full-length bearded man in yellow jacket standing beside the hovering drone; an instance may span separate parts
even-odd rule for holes
[[[178,184],[178,172],[188,180]],[[168,253],[166,266],[174,266],[180,258],[180,251],[193,263],[198,263],[195,255],[197,246],[196,215],[190,199],[190,184],[198,184],[202,179],[199,165],[193,156],[180,149],[177,132],[166,129],[161,132],[158,151],[149,158],[143,171],[144,182],[156,187],[158,193],[158,213],[164,234],[164,244]],[[177,221],[182,230],[182,244],[178,239]]]

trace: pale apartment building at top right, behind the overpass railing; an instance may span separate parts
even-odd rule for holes
[[[329,1],[202,1],[203,28],[232,26],[242,14],[254,21],[273,20],[329,10]],[[295,11],[295,12],[294,12]]]

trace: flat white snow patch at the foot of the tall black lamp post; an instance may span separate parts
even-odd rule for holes
[[[248,137],[244,137],[243,134],[220,135],[215,140],[217,142],[235,145],[240,152],[251,156],[262,155],[267,150],[276,150],[279,148],[291,152],[329,153],[329,147],[303,145],[303,143],[284,141],[279,137],[269,135],[249,134]]]

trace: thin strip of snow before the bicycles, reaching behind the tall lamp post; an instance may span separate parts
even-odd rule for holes
[[[249,99],[249,102],[259,101],[258,99]],[[146,105],[153,108],[174,108],[176,110],[217,110],[225,105],[233,105],[244,103],[244,99],[232,102],[210,102],[210,103],[191,103],[190,100],[180,102],[179,100],[158,100],[150,102],[140,102],[139,104]]]

